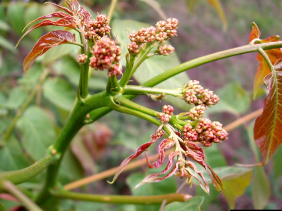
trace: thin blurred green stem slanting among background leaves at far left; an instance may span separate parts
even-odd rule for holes
[[[20,109],[17,111],[16,115],[14,116],[13,120],[11,121],[10,125],[8,126],[6,132],[3,135],[3,139],[7,140],[8,137],[10,136],[18,118],[22,115],[23,111],[27,108],[27,106],[31,103],[31,101],[34,99],[36,93],[38,92],[38,90],[40,90],[43,82],[45,81],[46,77],[48,76],[49,71],[48,69],[45,69],[43,71],[43,73],[40,76],[39,82],[36,85],[36,87],[31,91],[31,93],[29,94],[28,98],[26,99],[26,101],[23,103],[23,105],[20,107]]]

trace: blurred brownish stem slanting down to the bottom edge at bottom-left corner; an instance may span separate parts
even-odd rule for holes
[[[3,189],[7,192],[14,195],[22,204],[23,206],[30,211],[43,211],[36,205],[28,196],[26,196],[21,190],[19,190],[13,183],[10,181],[3,182]]]

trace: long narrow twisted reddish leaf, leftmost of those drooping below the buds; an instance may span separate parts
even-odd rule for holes
[[[131,156],[129,156],[128,158],[126,158],[121,164],[119,169],[117,170],[113,181],[109,182],[110,184],[113,184],[116,179],[118,178],[118,176],[120,175],[120,173],[122,172],[122,170],[125,168],[125,166],[133,159],[137,158],[138,156],[140,156],[146,149],[148,149],[149,146],[151,146],[152,143],[154,143],[156,140],[158,140],[162,135],[164,134],[163,131],[158,130],[154,135],[151,136],[151,140],[145,144],[142,144],[138,149],[137,152],[135,154],[132,154]]]

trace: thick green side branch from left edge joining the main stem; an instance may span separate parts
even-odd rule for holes
[[[3,188],[2,182],[4,180],[11,181],[14,184],[20,184],[32,179],[56,159],[58,159],[58,156],[49,153],[45,157],[41,158],[40,160],[26,168],[0,173],[0,189]]]

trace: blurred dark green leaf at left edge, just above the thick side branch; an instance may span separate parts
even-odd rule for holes
[[[0,160],[0,171],[17,170],[29,164],[19,141],[14,136],[2,142]]]

